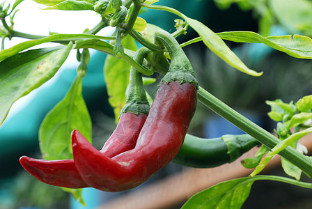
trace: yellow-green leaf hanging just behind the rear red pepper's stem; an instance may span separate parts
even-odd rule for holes
[[[136,50],[137,45],[134,39],[127,36],[123,40],[123,47]],[[114,108],[116,123],[120,110],[125,105],[125,91],[130,79],[131,66],[122,59],[116,59],[114,56],[107,56],[104,64],[104,79],[107,85],[107,93],[109,95],[109,104]]]

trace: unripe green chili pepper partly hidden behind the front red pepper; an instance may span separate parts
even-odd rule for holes
[[[203,139],[187,134],[173,162],[187,167],[212,168],[233,162],[259,142],[249,134]]]

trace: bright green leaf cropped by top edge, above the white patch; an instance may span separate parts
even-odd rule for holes
[[[45,8],[46,10],[94,10],[93,3],[85,0],[65,0],[54,6]]]

